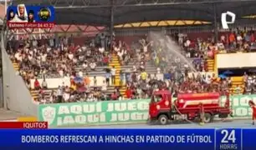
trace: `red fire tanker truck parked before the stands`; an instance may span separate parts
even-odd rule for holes
[[[202,111],[204,114],[202,119],[206,123],[212,122],[217,116],[228,117],[232,113],[229,94],[226,94],[226,101],[222,106],[218,92],[182,93],[177,96],[177,100],[172,101],[171,92],[160,90],[153,92],[149,107],[150,121],[162,125],[177,119],[193,121],[200,117]]]

